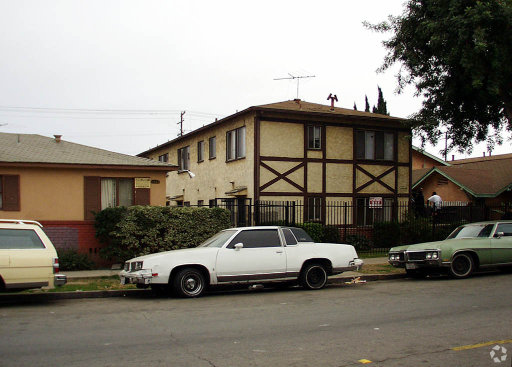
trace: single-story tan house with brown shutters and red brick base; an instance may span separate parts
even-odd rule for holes
[[[178,167],[36,134],[0,133],[0,217],[37,220],[56,248],[97,263],[94,212],[165,205],[166,175]]]

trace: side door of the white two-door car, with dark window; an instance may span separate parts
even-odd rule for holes
[[[242,243],[242,248],[234,245]],[[277,229],[244,230],[217,254],[217,281],[284,280],[286,252]]]

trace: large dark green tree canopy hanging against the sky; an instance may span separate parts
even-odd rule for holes
[[[367,28],[391,32],[379,71],[401,64],[397,91],[423,97],[412,127],[436,144],[447,131],[448,150],[471,151],[512,131],[512,0],[409,0],[401,16]],[[442,129],[442,131],[441,131]]]

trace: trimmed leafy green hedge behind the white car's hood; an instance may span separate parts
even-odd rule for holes
[[[100,256],[123,263],[155,252],[196,247],[231,227],[230,212],[220,208],[133,206],[95,214]]]

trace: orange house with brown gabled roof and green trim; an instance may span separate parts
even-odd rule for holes
[[[413,169],[413,190],[437,192],[443,201],[474,205],[512,202],[512,154],[442,161],[435,167]]]

